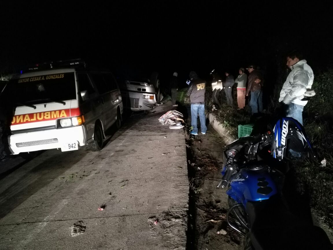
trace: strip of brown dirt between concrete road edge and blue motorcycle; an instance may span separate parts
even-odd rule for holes
[[[190,201],[195,205],[191,210],[192,249],[242,249],[242,237],[225,220],[228,209],[225,190],[217,188],[225,142],[210,125],[207,127],[206,135],[187,140]]]

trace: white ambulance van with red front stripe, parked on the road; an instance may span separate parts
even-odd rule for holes
[[[88,71],[82,61],[35,67],[14,76],[0,98],[13,107],[12,154],[45,149],[103,148],[105,131],[121,126],[123,103],[111,72]],[[43,68],[43,69],[41,69]]]

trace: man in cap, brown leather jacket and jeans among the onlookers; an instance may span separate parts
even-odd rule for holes
[[[248,86],[245,95],[248,96],[249,93],[251,92],[250,101],[248,105],[251,107],[253,115],[255,113],[262,112],[261,87],[262,87],[263,77],[261,73],[258,70],[256,70],[256,67],[254,65],[250,65],[246,69],[250,74],[248,77]]]

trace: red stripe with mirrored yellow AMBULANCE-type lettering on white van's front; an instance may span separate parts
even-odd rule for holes
[[[51,121],[59,118],[73,117],[81,115],[79,108],[73,109],[60,109],[39,113],[30,113],[23,115],[14,115],[12,120],[12,125],[31,123],[31,122],[42,122]]]

